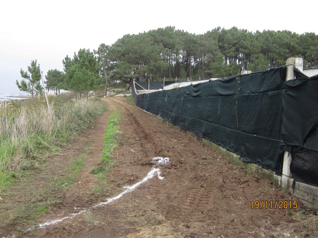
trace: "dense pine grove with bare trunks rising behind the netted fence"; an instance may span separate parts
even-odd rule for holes
[[[318,66],[318,36],[287,30],[218,27],[195,35],[166,27],[125,35],[109,51],[109,70],[118,80],[224,77],[281,66],[289,57],[302,57],[305,68]]]

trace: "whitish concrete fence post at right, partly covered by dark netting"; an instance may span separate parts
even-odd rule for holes
[[[286,81],[294,79],[294,67],[299,69],[302,72],[303,59],[302,58],[288,58],[286,61],[287,70],[286,70]],[[288,187],[288,178],[291,176],[290,173],[290,164],[292,161],[292,156],[285,151],[283,158],[283,172],[281,177],[281,187],[283,190],[286,190]]]

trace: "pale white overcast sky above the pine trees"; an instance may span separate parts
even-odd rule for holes
[[[302,3],[304,5],[302,5]],[[80,48],[175,26],[202,34],[220,26],[318,34],[318,1],[1,1],[0,93],[19,92],[20,69],[37,59],[45,75]]]

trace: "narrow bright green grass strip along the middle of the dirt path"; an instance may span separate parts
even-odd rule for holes
[[[120,127],[116,124],[119,121],[120,110],[113,112],[107,122],[107,129],[104,136],[104,146],[102,149],[101,161],[107,164],[111,164],[111,153],[113,149],[118,145],[117,136],[119,135]]]

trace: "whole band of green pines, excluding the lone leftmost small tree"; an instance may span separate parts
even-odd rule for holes
[[[64,72],[50,70],[46,84],[56,91],[68,89],[80,95],[105,84],[106,95],[109,82],[131,85],[133,79],[225,77],[241,70],[281,66],[289,57],[302,57],[304,68],[318,67],[318,36],[288,30],[253,33],[237,27],[217,27],[196,35],[169,26],[124,35],[112,45],[100,44],[93,52],[81,49],[72,59],[66,56]]]

